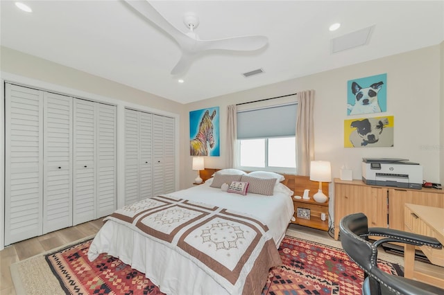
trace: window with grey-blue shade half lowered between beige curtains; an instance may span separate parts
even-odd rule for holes
[[[237,113],[239,168],[296,172],[296,104]]]

